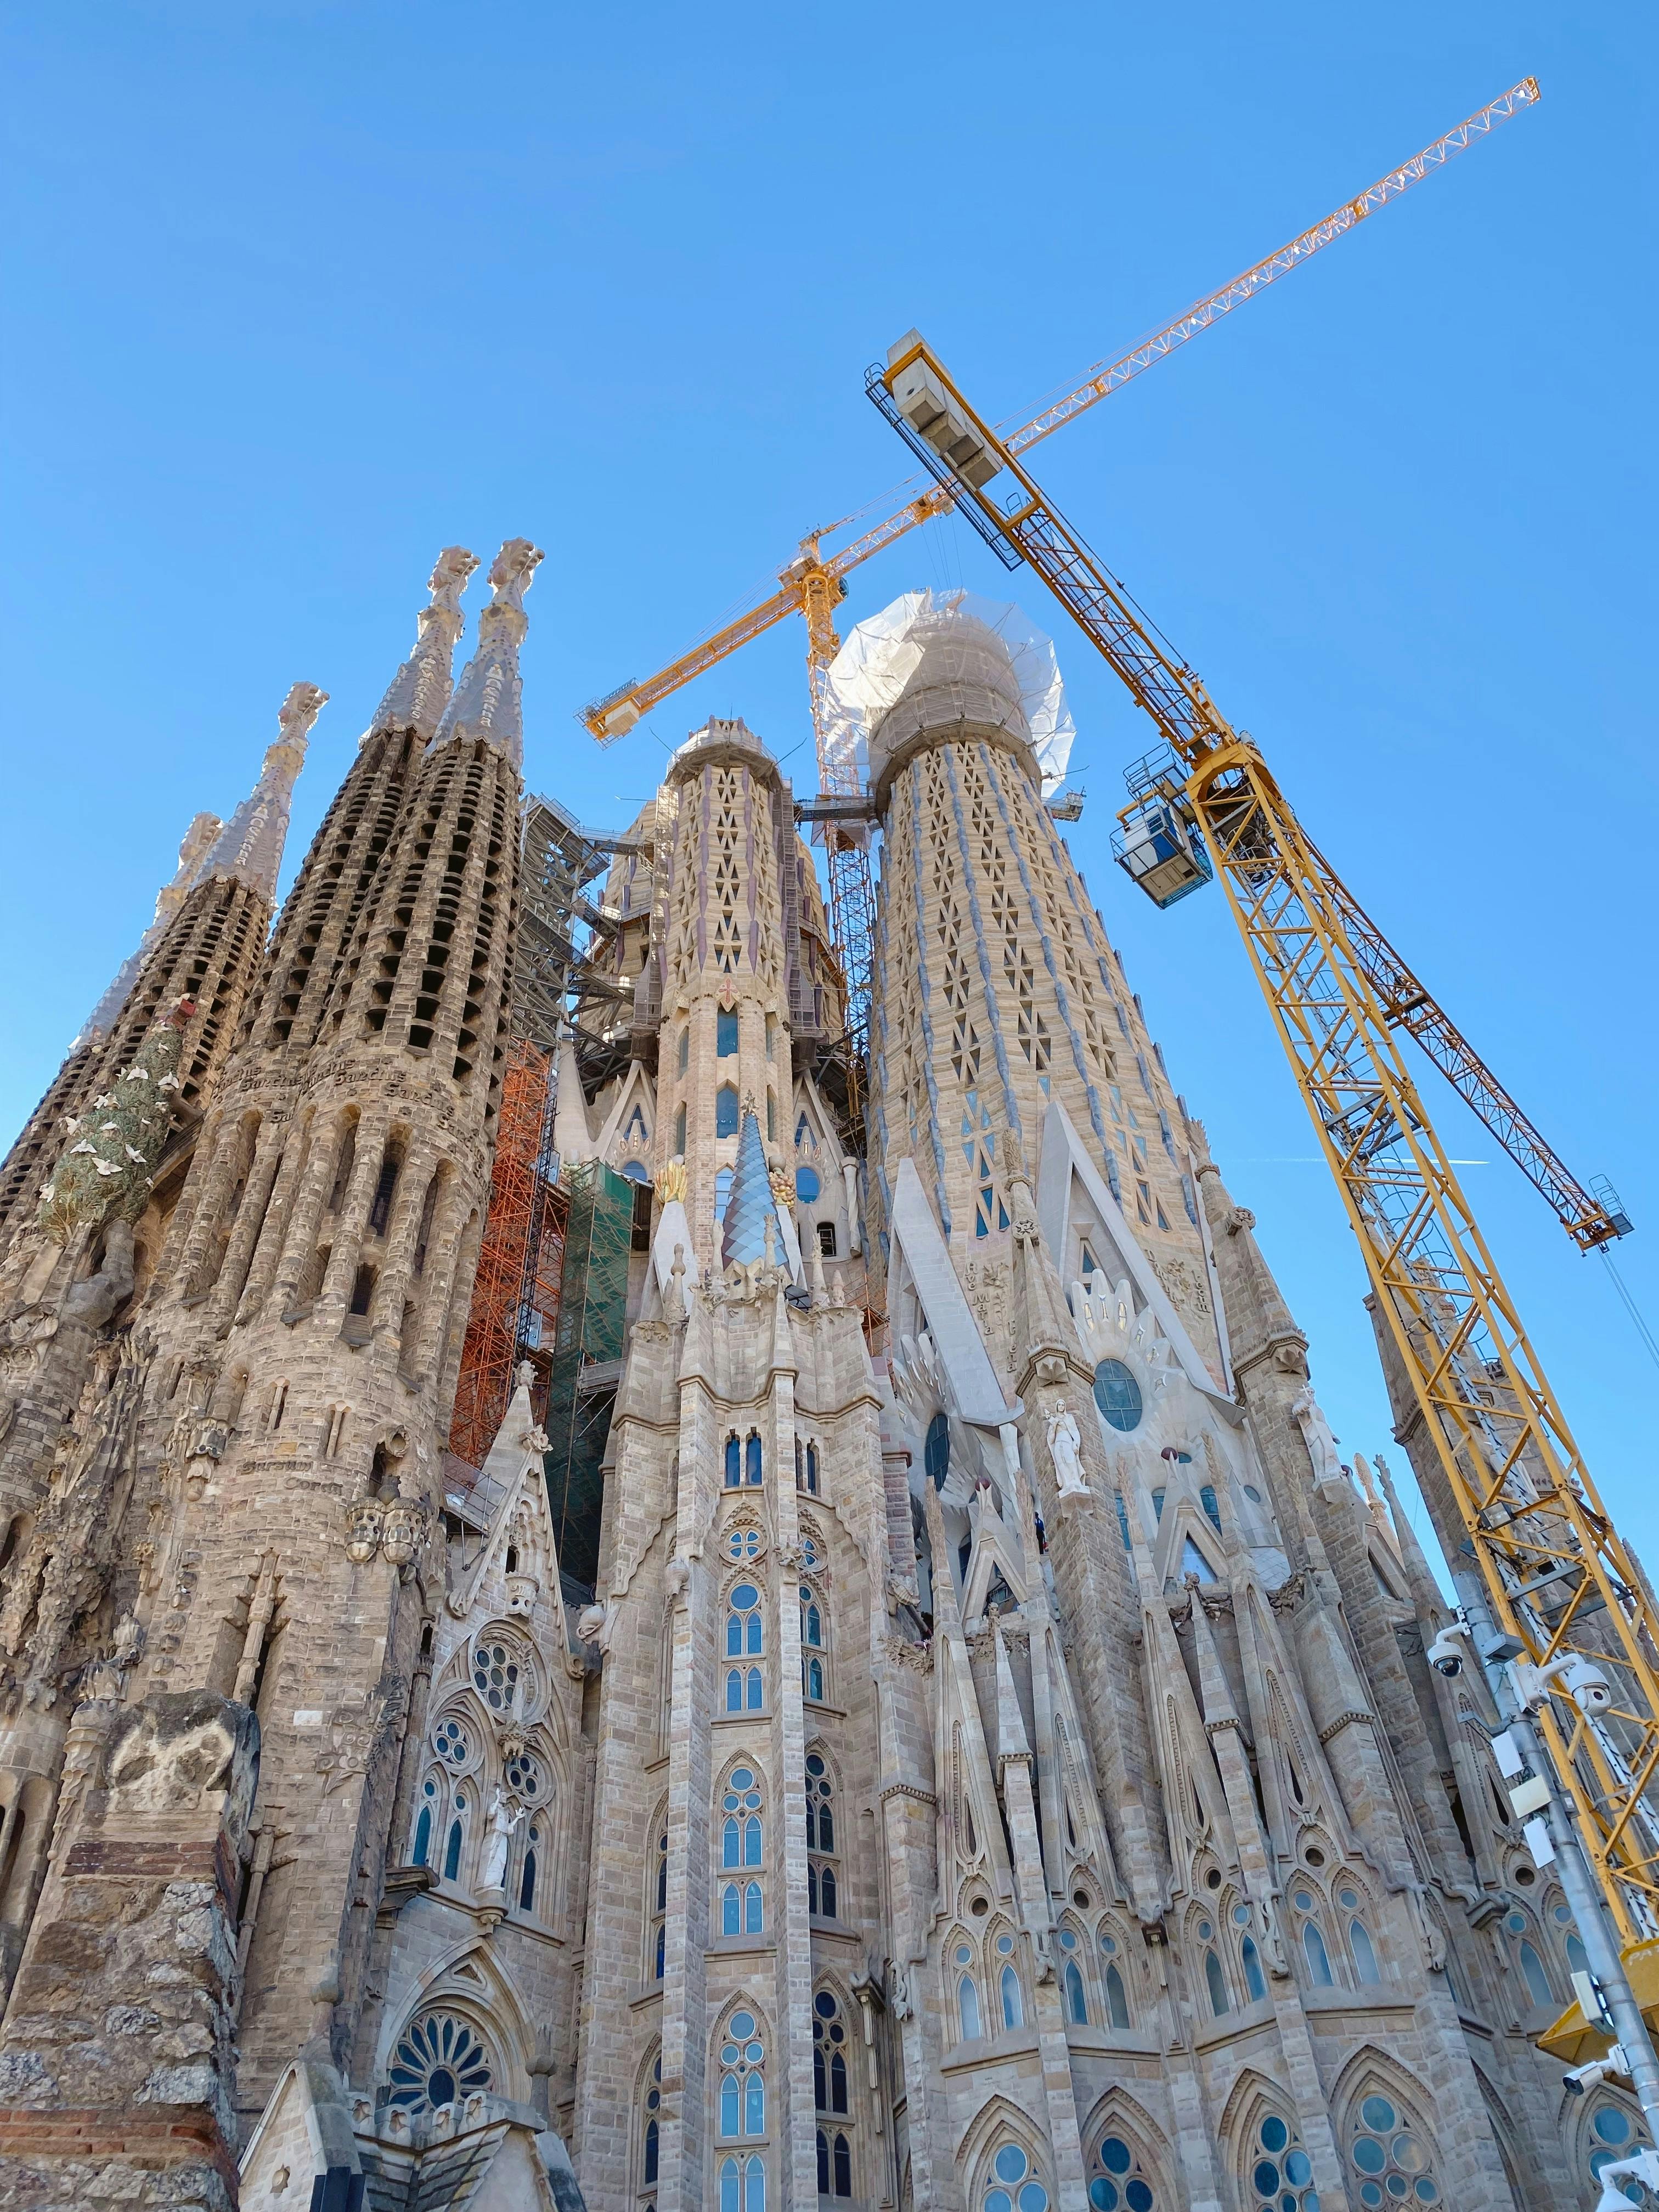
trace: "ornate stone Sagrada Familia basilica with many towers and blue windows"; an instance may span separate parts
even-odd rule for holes
[[[272,927],[294,686],[0,1170],[0,2205],[1588,2203],[1484,1688],[964,602],[867,717],[856,1119],[768,745],[615,841],[593,1557],[531,1367],[456,1489],[538,560],[456,681],[440,557]]]

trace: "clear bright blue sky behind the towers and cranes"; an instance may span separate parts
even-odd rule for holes
[[[1568,1161],[1615,1177],[1659,1323],[1652,24],[1535,0],[9,9],[7,1133],[305,677],[332,703],[292,876],[440,544],[546,549],[526,772],[584,818],[619,825],[710,712],[812,785],[799,624],[611,752],[573,710],[907,473],[863,398],[891,338],[920,325],[1018,416],[1535,73],[1535,111],[1035,460]],[[1150,730],[960,522],[867,564],[843,622],[951,582],[1053,630],[1073,849],[1345,1451],[1387,1451],[1358,1252],[1221,896],[1159,916],[1108,860]],[[1460,1108],[1444,1128],[1659,1568],[1659,1369],[1601,1261]]]

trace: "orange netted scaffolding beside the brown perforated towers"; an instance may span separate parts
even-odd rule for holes
[[[484,1241],[467,1314],[449,1451],[469,1469],[484,1464],[513,1396],[513,1369],[538,1369],[542,1409],[553,1323],[564,1270],[568,1192],[551,1181],[553,1057],[513,1040],[502,1077],[495,1170],[489,1181]],[[544,1349],[549,1347],[549,1349]],[[460,1469],[451,1462],[451,1480]]]

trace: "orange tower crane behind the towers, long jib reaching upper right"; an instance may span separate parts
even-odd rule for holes
[[[1009,434],[1009,451],[1024,453],[1062,425],[1075,422],[1077,416],[1086,414],[1097,400],[1108,398],[1108,394],[1117,392],[1133,376],[1139,376],[1141,369],[1150,369],[1155,361],[1161,361],[1179,345],[1186,345],[1188,338],[1194,338],[1201,330],[1219,323],[1223,314],[1232,314],[1234,307],[1241,307],[1248,299],[1254,299],[1281,276],[1287,276],[1290,270],[1301,268],[1321,248],[1329,246],[1332,239],[1340,239],[1356,223],[1365,221],[1367,215],[1385,208],[1391,199],[1398,199],[1400,192],[1409,192],[1413,184],[1420,184],[1425,177],[1433,175],[1433,170],[1444,168],[1453,155],[1473,146],[1478,139],[1489,137],[1498,124],[1517,115],[1522,108],[1533,106],[1535,100],[1535,77],[1522,77],[1520,84],[1511,84],[1506,93],[1498,95],[1498,100],[1489,100],[1484,108],[1467,115],[1431,146],[1425,146],[1422,153],[1411,155],[1409,161],[1402,161],[1385,177],[1378,177],[1376,184],[1369,184],[1354,199],[1345,199],[1340,208],[1332,210],[1332,215],[1314,223],[1310,230],[1298,232],[1287,246],[1281,246],[1279,252],[1267,254],[1265,261],[1256,261],[1230,283],[1221,285],[1219,292],[1210,292],[1208,299],[1194,301],[1194,305],[1190,305],[1172,323],[1166,323],[1161,330],[1152,332],[1150,338],[1130,347],[1128,354],[1121,354],[1117,361],[1095,363],[1095,367],[1088,369],[1079,383]],[[650,708],[659,706],[681,686],[690,684],[692,677],[717,668],[728,655],[737,653],[739,646],[745,646],[752,637],[761,637],[765,630],[783,622],[785,615],[805,615],[807,690],[812,699],[812,728],[818,739],[818,787],[832,799],[856,799],[858,770],[852,761],[832,761],[825,743],[830,730],[825,679],[830,675],[830,664],[841,650],[834,611],[847,597],[847,575],[854,568],[872,555],[883,553],[887,546],[896,544],[933,515],[949,513],[951,507],[953,493],[947,487],[918,487],[914,498],[905,500],[891,515],[874,524],[874,529],[867,529],[860,538],[841,546],[841,551],[830,557],[823,553],[823,540],[834,531],[845,529],[845,522],[810,531],[801,540],[796,557],[779,575],[779,588],[774,593],[750,606],[734,622],[714,630],[701,644],[692,646],[690,653],[681,653],[677,661],[670,661],[668,668],[657,670],[657,675],[648,677],[644,684],[619,684],[602,699],[584,706],[577,719],[602,745],[613,745],[619,737],[633,730],[641,714],[648,714]],[[825,843],[830,927],[836,945],[841,947],[841,960],[847,975],[847,1082],[849,1104],[856,1115],[860,1066],[867,1051],[876,922],[876,894],[869,876],[869,836],[860,823],[834,818],[821,818],[816,823],[816,834]]]

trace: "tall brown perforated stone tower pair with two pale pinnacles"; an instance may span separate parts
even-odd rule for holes
[[[139,1460],[131,1495],[108,1500],[144,1528],[124,1590],[133,1692],[164,1734],[179,1699],[234,1708],[228,1743],[241,1708],[259,1719],[257,1792],[212,1845],[232,1854],[237,1907],[239,2064],[234,2086],[204,2088],[221,2137],[228,2099],[257,2117],[307,2031],[347,2051],[363,2006],[361,1869],[385,1858],[436,1604],[440,1440],[489,1188],[538,560],[522,540],[502,549],[453,697],[476,564],[440,560],[416,653],[237,1009],[135,1343]],[[181,1834],[201,1818],[179,1809]],[[55,1863],[13,2037],[75,1911]]]

